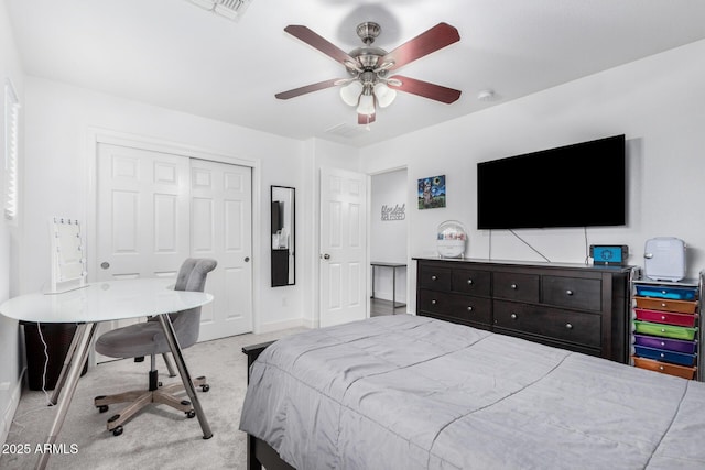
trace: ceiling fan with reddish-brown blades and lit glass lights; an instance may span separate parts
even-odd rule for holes
[[[391,52],[372,45],[381,28],[371,21],[357,26],[357,35],[365,45],[350,53],[346,53],[306,26],[291,24],[284,28],[284,31],[343,64],[349,77],[324,80],[274,95],[279,99],[290,99],[340,86],[343,101],[349,106],[357,106],[358,123],[369,124],[375,121],[376,107],[389,106],[397,96],[395,90],[445,103],[452,103],[460,97],[460,91],[453,88],[402,75],[389,76],[390,72],[459,41],[458,30],[447,23],[436,24]]]

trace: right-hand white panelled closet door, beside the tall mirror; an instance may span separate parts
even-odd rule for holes
[[[191,160],[191,251],[218,261],[206,284],[215,299],[200,310],[200,341],[252,331],[251,172]]]

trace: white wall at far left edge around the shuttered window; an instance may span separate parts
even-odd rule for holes
[[[12,39],[12,30],[6,10],[6,3],[0,2],[0,84],[2,86],[2,109],[4,109],[4,80],[10,79],[14,87],[20,103],[24,101],[24,81],[20,58]],[[20,120],[24,110],[20,111]],[[4,130],[4,111],[0,112],[0,128]],[[20,130],[22,132],[22,130]],[[21,138],[22,134],[20,134]],[[4,131],[0,131],[0,194],[4,194]],[[20,155],[23,149],[20,146]],[[7,300],[13,293],[13,267],[17,266],[18,228],[9,225],[0,215],[0,303]],[[12,416],[20,401],[21,384],[21,338],[20,329],[15,320],[0,315],[0,444],[6,441]]]

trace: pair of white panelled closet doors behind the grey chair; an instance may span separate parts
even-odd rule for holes
[[[100,143],[97,176],[89,277],[175,278],[186,258],[214,258],[199,340],[251,331],[251,168]]]

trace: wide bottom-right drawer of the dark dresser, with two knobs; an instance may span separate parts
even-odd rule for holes
[[[593,348],[601,346],[601,318],[596,314],[495,300],[496,327],[551,337]]]

